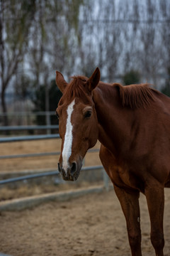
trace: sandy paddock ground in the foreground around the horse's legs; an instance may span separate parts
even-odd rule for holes
[[[142,252],[154,256],[145,196]],[[13,256],[130,256],[125,218],[114,191],[0,215],[0,252]],[[170,189],[165,191],[164,255],[170,255]]]

